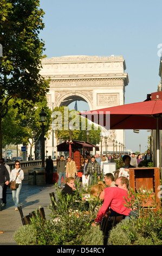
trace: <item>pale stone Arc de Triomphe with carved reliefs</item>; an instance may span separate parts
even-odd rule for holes
[[[63,56],[42,60],[40,74],[50,78],[50,90],[47,94],[48,106],[68,106],[76,100],[86,101],[89,110],[112,107],[125,103],[125,86],[128,74],[122,56]],[[87,109],[88,110],[88,109]],[[56,151],[56,142],[52,149],[52,136],[46,142],[48,155]],[[109,131],[108,149],[113,151],[112,139],[125,144],[123,130]],[[105,142],[102,142],[102,151]],[[116,151],[116,146],[115,146]],[[118,148],[119,151],[119,148]]]

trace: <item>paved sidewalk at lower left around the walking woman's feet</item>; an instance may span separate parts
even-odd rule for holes
[[[29,212],[43,207],[48,219],[50,210],[50,192],[55,191],[54,184],[47,185],[28,185],[22,184],[20,193],[20,205],[22,207],[23,215],[28,215]],[[15,211],[14,202],[12,200],[12,193],[10,188],[7,190],[7,205],[1,206],[0,211],[0,245],[17,245],[14,240],[14,232],[22,225],[22,220],[19,211]]]

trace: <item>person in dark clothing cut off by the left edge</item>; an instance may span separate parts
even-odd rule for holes
[[[1,201],[3,198],[3,187],[4,187],[4,184],[9,185],[9,180],[10,180],[10,175],[8,173],[7,168],[4,166],[4,164],[0,163],[0,211],[1,211]]]

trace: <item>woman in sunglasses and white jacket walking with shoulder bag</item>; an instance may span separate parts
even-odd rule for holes
[[[16,190],[12,190],[12,198],[15,204],[15,211],[17,211],[19,195],[22,188],[22,180],[24,179],[24,172],[20,168],[20,162],[17,160],[15,161],[15,169],[12,169],[10,173],[10,182],[15,179],[16,179]]]

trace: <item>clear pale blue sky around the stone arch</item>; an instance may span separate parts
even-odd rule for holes
[[[41,0],[48,58],[66,55],[115,56],[126,62],[125,103],[156,92],[162,53],[161,0]],[[85,109],[85,108],[84,108]],[[150,132],[126,130],[127,149],[146,150]]]

